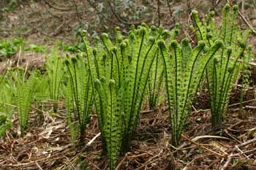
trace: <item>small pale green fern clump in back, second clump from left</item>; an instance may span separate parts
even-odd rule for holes
[[[48,74],[50,99],[58,101],[61,93],[61,80],[64,77],[64,64],[56,49],[53,49],[52,55],[48,56],[45,68]]]

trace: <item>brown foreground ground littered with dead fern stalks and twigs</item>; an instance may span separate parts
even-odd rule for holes
[[[251,98],[252,92],[246,97]],[[223,126],[213,130],[209,109],[200,109],[207,100],[202,96],[189,115],[178,148],[170,144],[166,107],[141,112],[131,152],[119,159],[117,169],[256,169],[256,99],[244,101],[246,109],[241,110],[239,103],[230,104]],[[56,113],[45,111],[51,106],[45,102],[31,107],[31,128],[23,138],[15,117],[0,143],[0,169],[107,169],[97,115],[91,115],[86,145],[77,150],[65,123],[64,104],[59,103]]]

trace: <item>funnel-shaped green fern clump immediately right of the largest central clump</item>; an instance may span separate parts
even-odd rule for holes
[[[159,51],[164,59],[165,82],[170,112],[173,145],[178,146],[181,133],[191,108],[191,100],[197,92],[204,69],[222,42],[201,53],[205,43],[200,41],[194,49],[188,39],[183,39],[181,45],[173,40],[166,46],[159,42]],[[170,53],[169,48],[170,47]]]

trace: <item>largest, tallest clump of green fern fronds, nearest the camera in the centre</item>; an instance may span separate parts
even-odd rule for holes
[[[125,39],[116,30],[116,43],[102,34],[94,50],[83,32],[86,57],[96,88],[95,101],[99,128],[110,169],[115,169],[117,156],[129,150],[129,143],[138,124],[140,107],[152,62],[157,56],[156,40],[162,29],[134,26]]]

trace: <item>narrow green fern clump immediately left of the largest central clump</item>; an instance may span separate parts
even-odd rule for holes
[[[83,136],[86,131],[86,125],[89,123],[89,114],[93,105],[93,89],[91,82],[91,74],[88,64],[83,62],[81,56],[68,58],[66,61],[69,78],[67,79],[66,104],[67,104],[67,122],[73,132],[75,122],[78,122],[80,131],[80,143],[83,143]],[[74,110],[75,115],[72,119],[70,108]],[[74,135],[72,134],[73,138]]]

